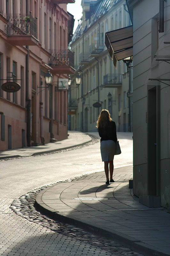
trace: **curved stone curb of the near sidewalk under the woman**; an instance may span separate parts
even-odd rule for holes
[[[170,255],[170,254],[166,254],[164,252],[158,251],[156,250],[155,247],[152,247],[148,244],[144,244],[141,241],[137,241],[136,239],[133,239],[132,237],[128,235],[124,235],[115,230],[111,232],[99,227],[92,226],[88,223],[81,222],[80,220],[76,220],[60,214],[59,212],[57,212],[57,210],[53,210],[52,208],[44,204],[42,201],[42,195],[48,189],[49,188],[45,188],[39,192],[39,194],[36,196],[34,207],[38,212],[41,212],[42,214],[48,216],[49,218],[53,220],[58,220],[64,223],[68,223],[70,225],[74,225],[78,228],[82,228],[86,231],[89,231],[95,235],[105,237],[106,239],[114,240],[122,244],[123,246],[128,247],[131,250],[139,252],[141,254],[145,254],[146,256],[169,256]]]

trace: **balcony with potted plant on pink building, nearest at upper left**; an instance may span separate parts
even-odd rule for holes
[[[31,14],[5,14],[5,33],[14,45],[37,45],[37,20]]]

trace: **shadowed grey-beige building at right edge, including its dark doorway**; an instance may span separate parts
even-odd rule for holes
[[[127,0],[133,22],[133,190],[170,205],[170,1]]]

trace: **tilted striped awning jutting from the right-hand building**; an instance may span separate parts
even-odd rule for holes
[[[105,45],[115,67],[118,60],[133,56],[133,25],[106,32]]]

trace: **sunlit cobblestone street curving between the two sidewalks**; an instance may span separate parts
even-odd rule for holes
[[[118,133],[118,139],[122,154],[115,156],[114,167],[130,166],[132,165],[132,133]],[[94,245],[89,244],[86,238],[84,240],[76,239],[75,235],[73,238],[64,235],[64,231],[61,234],[45,225],[30,222],[29,215],[35,211],[33,208],[32,210],[28,209],[27,216],[24,218],[10,209],[14,200],[18,200],[22,195],[26,195],[36,188],[59,181],[72,180],[84,174],[103,171],[99,140],[93,141],[87,146],[58,153],[2,160],[0,165],[1,255],[129,255],[129,249],[122,248],[120,252],[115,250],[113,254],[103,247],[97,246],[97,242],[94,242]],[[46,222],[50,222],[50,220],[46,220]],[[69,228],[74,227],[67,225],[65,234],[70,233]],[[121,248],[118,244],[114,246]]]

